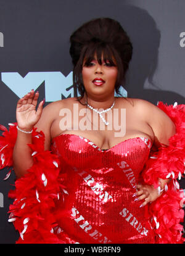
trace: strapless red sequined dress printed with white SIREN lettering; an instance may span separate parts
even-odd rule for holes
[[[67,243],[154,243],[147,205],[133,197],[151,146],[137,137],[103,151],[75,134],[54,138],[68,192],[57,205],[59,236]]]

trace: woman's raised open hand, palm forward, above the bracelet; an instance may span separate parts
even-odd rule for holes
[[[39,93],[32,89],[17,102],[16,118],[20,129],[31,130],[38,122],[43,111],[44,100],[41,101],[36,110]]]

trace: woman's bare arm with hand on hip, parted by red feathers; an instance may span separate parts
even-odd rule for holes
[[[169,145],[168,139],[176,133],[175,124],[172,122],[171,118],[168,117],[165,112],[159,109],[154,104],[139,100],[137,101],[137,111],[139,117],[143,118],[144,122],[152,128],[154,132],[154,144],[158,147],[161,144]],[[165,184],[167,184],[170,179],[162,180],[158,179],[158,184],[160,190],[163,191]],[[133,196],[136,197],[135,200],[145,200],[141,206],[153,202],[160,196],[160,190],[155,189],[153,186],[138,184],[138,192]]]

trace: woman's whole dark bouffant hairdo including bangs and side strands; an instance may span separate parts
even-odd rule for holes
[[[82,68],[94,59],[102,64],[109,60],[110,65],[118,67],[115,91],[125,84],[125,74],[133,54],[133,46],[120,23],[110,18],[99,18],[84,23],[70,36],[70,56],[73,62],[73,86],[78,88],[81,98],[84,96]],[[120,94],[121,95],[121,94]]]

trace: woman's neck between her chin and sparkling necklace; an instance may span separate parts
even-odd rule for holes
[[[93,107],[94,109],[108,109],[112,106],[113,102],[115,101],[114,95],[109,97],[109,99],[94,99],[93,97],[88,97],[86,94],[84,94],[83,102],[88,103]]]

